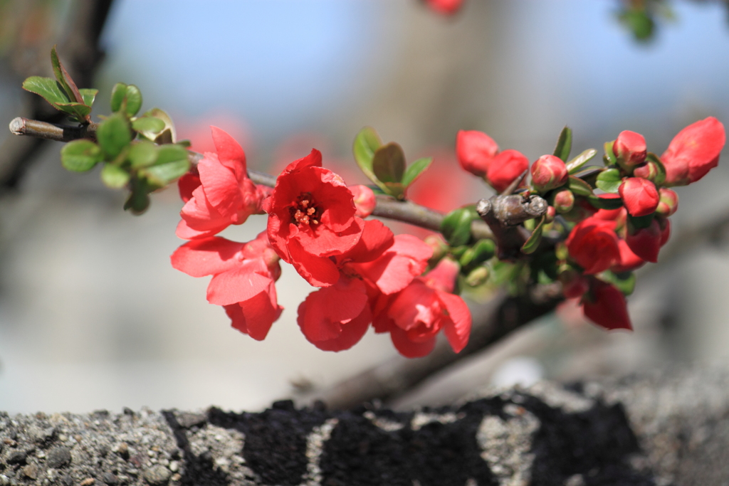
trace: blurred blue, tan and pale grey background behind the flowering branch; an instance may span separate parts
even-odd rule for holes
[[[74,46],[88,4],[0,0],[0,126],[28,109],[20,85],[50,74],[52,44],[62,59]],[[196,149],[211,149],[208,125],[227,130],[249,168],[278,171],[315,146],[349,184],[363,180],[351,142],[373,126],[408,160],[435,158],[413,197],[445,211],[489,192],[458,168],[459,129],[535,160],[564,125],[574,153],[634,130],[660,154],[697,119],[729,122],[725,5],[670,5],[674,20],[639,43],[617,20],[618,0],[466,0],[453,17],[417,0],[114,0],[97,26],[106,55],[93,84],[79,85],[100,88],[94,114],[104,114],[115,82],[135,84],[143,109],[168,111]],[[11,137],[0,130],[0,144]],[[342,353],[306,342],[295,317],[311,287],[291,267],[277,285],[286,310],[267,339],[231,329],[206,302],[208,279],[169,263],[182,244],[176,191],[131,216],[98,173],[64,171],[61,146],[32,152],[0,193],[0,410],[256,410],[395,355],[389,337],[371,331]],[[722,161],[677,190],[674,240],[727,217],[727,184]],[[254,216],[224,235],[250,240],[264,227]],[[712,237],[669,243],[639,272],[634,333],[603,332],[564,307],[396,405],[442,403],[489,383],[728,364],[729,257],[722,235]]]

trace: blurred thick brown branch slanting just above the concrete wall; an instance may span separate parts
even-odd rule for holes
[[[348,409],[375,399],[396,399],[456,361],[479,353],[515,329],[550,313],[563,299],[557,286],[533,290],[529,295],[519,297],[509,297],[502,292],[475,312],[478,318],[469,343],[461,353],[453,353],[448,342],[439,340],[432,353],[424,358],[395,356],[327,390],[310,393],[304,399],[320,399],[334,409]]]

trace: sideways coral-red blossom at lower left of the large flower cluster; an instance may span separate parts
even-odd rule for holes
[[[218,236],[192,240],[177,248],[171,261],[192,277],[213,275],[208,302],[225,307],[233,327],[255,340],[265,338],[281,315],[273,285],[281,267],[265,232],[248,243]]]

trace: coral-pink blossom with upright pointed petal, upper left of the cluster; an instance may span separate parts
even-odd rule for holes
[[[206,152],[198,163],[200,184],[195,187],[197,178],[192,173],[179,186],[187,201],[176,232],[186,240],[207,238],[230,224],[243,224],[251,214],[263,212],[261,201],[268,193],[248,178],[246,154],[238,142],[217,127],[211,131],[217,153]]]

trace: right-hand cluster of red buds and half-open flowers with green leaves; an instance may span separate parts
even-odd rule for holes
[[[657,262],[668,241],[668,217],[678,209],[678,196],[669,187],[698,181],[717,166],[724,127],[714,117],[695,122],[660,157],[647,151],[642,135],[623,131],[605,144],[603,168],[583,167],[595,150],[567,160],[569,144],[564,141],[571,133],[563,135],[555,154],[531,165],[531,184],[522,183],[519,189],[550,204],[535,229],[537,236],[564,240],[540,247],[542,256],[532,260],[532,275],[560,281],[564,296],[580,299],[585,316],[599,326],[632,329],[625,294],[634,286],[632,270]],[[529,166],[519,152],[499,152],[496,142],[477,131],[459,132],[456,154],[462,168],[499,192]]]

